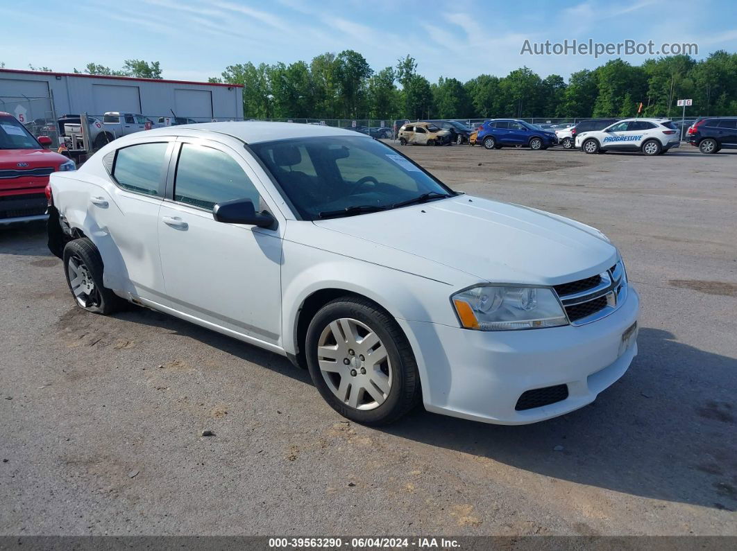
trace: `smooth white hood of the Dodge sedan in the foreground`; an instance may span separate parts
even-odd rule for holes
[[[366,260],[374,263],[408,271],[409,255],[430,260],[416,263],[413,273],[450,283],[449,274],[462,271],[491,282],[558,285],[601,273],[618,257],[615,246],[590,226],[467,195],[314,224],[372,243],[365,247],[371,251]],[[376,245],[406,254],[382,254]],[[351,255],[355,250],[353,246]],[[393,266],[402,256],[397,260],[402,266]],[[427,272],[433,263],[438,274]]]

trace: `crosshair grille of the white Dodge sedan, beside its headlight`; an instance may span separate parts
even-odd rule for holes
[[[619,260],[601,274],[553,286],[571,325],[583,325],[609,316],[624,301],[627,280]]]

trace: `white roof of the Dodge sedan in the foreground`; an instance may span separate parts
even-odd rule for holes
[[[146,131],[146,135],[171,135],[181,130],[203,130],[218,132],[245,141],[245,143],[259,143],[265,141],[287,140],[289,138],[312,138],[319,136],[360,136],[353,130],[328,127],[315,124],[300,124],[294,122],[262,122],[262,121],[234,121],[234,122],[205,122],[199,124],[181,124],[175,129],[156,128]],[[371,140],[366,136],[367,140]]]

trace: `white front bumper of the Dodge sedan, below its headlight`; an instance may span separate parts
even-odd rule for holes
[[[632,286],[622,305],[604,319],[579,327],[473,331],[399,320],[415,351],[428,411],[497,424],[551,419],[590,404],[626,372],[637,355],[635,338],[622,335],[638,319]],[[559,402],[516,410],[529,390],[567,385]]]

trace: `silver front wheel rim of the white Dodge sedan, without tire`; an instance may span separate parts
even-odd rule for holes
[[[324,328],[318,365],[332,394],[351,408],[376,409],[391,391],[393,369],[386,347],[357,319],[336,319]]]

